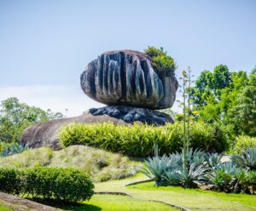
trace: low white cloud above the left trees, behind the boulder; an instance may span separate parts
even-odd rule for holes
[[[0,87],[0,100],[17,97],[20,102],[29,106],[37,106],[44,110],[61,111],[67,117],[81,115],[90,108],[104,106],[86,96],[79,86],[32,85],[16,87]],[[179,111],[177,102],[173,111]]]

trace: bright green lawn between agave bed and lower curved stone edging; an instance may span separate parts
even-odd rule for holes
[[[175,186],[155,187],[153,182],[125,187],[127,183],[146,179],[148,178],[139,175],[125,180],[96,183],[96,191],[122,191],[139,200],[171,202],[191,210],[256,210],[256,197],[253,195],[226,194]]]

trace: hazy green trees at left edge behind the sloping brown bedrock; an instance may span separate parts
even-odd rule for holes
[[[27,106],[15,97],[3,100],[0,108],[0,142],[19,141],[23,130],[32,123],[63,117],[60,112]]]

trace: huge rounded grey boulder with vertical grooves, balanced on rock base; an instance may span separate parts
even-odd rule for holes
[[[147,54],[133,50],[105,52],[86,66],[80,79],[85,94],[110,106],[164,109],[176,98],[176,77],[161,76]]]

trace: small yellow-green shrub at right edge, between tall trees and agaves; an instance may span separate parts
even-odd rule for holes
[[[256,137],[250,137],[247,135],[240,135],[236,137],[236,144],[233,147],[233,151],[237,154],[241,154],[244,149],[256,147]]]

